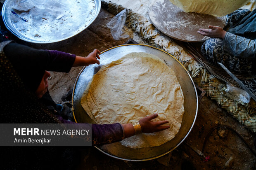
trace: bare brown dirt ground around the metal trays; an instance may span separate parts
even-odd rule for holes
[[[111,47],[121,45],[126,40],[113,40],[109,28],[106,24],[113,17],[105,9],[101,9],[99,16],[83,32],[78,35],[52,44],[31,44],[22,42],[37,49],[50,49],[64,51],[78,56],[87,56],[93,49],[104,51]],[[131,37],[133,34],[131,34]],[[135,35],[135,34],[134,34]],[[133,37],[135,41],[142,43],[138,36]],[[63,103],[62,96],[69,92],[74,85],[78,73],[82,67],[72,68],[69,73],[51,72],[49,78],[49,91],[56,103]],[[199,103],[197,121],[186,140],[174,151],[166,156],[152,161],[125,162],[116,158],[111,158],[94,147],[81,147],[84,151],[83,161],[78,169],[88,170],[180,170],[184,160],[193,162],[197,170],[224,169],[226,161],[232,156],[234,163],[230,166],[232,170],[255,170],[256,157],[251,153],[240,138],[230,130],[225,137],[219,137],[218,130],[215,130],[206,143],[204,154],[210,156],[209,161],[204,162],[204,158],[199,156],[190,147],[202,149],[204,139],[209,130],[217,125],[228,125],[237,130],[242,137],[254,149],[254,133],[244,128],[225,110],[218,107],[216,102],[204,96]],[[189,168],[191,169],[191,168]]]

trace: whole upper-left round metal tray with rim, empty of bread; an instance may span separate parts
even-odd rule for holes
[[[63,2],[67,4],[69,1]],[[28,21],[25,22],[11,12],[14,10],[13,3],[14,0],[5,0],[2,7],[2,17],[6,28],[21,40],[41,44],[59,42],[77,35],[97,18],[101,7],[100,0],[72,1],[69,2],[71,5],[66,6],[63,6],[60,2],[58,4],[60,7],[53,7],[50,12],[47,10],[44,12],[43,9],[40,9],[41,6],[44,7],[44,5],[41,5],[37,9],[39,10],[38,15],[34,14],[35,12],[32,15],[29,13],[33,10],[32,5],[31,9],[24,9],[27,11],[19,13],[22,18],[26,17]],[[34,3],[40,5],[40,1]],[[57,13],[61,12],[62,8],[64,8],[63,11],[66,14],[63,12],[63,15],[58,15]],[[59,11],[55,11],[57,9]]]

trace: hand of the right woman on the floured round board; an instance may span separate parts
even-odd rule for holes
[[[226,34],[225,30],[218,26],[208,26],[208,28],[209,29],[200,28],[199,31],[197,31],[197,33],[208,37],[224,39]]]

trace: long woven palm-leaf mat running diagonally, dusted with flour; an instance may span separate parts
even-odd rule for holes
[[[107,7],[108,12],[114,15],[126,9],[111,1],[101,0],[101,2],[102,6]],[[133,12],[131,9],[126,9],[126,11],[126,25],[129,28],[137,32],[142,39],[147,40],[150,45],[163,49],[177,58],[188,70],[194,83],[206,91],[207,96],[211,97],[212,100],[216,100],[221,108],[226,109],[243,126],[247,126],[247,128],[256,132],[256,102],[251,99],[249,104],[245,104],[242,101],[234,101],[228,98],[225,95],[226,83],[223,81],[235,83],[229,75],[205,61],[200,52],[198,52],[200,50],[193,43],[184,45],[186,51],[190,53],[188,54],[170,37],[157,30],[147,17]],[[236,76],[244,78],[238,74]]]

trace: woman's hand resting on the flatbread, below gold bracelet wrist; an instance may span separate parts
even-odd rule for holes
[[[152,119],[155,119],[157,116],[158,114],[155,113],[151,116],[140,119],[139,123],[141,126],[142,133],[153,133],[170,128],[170,126],[161,126],[165,123],[169,123],[169,121],[151,121]]]

